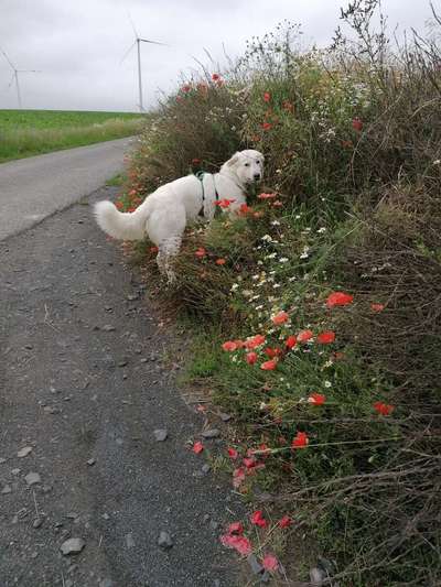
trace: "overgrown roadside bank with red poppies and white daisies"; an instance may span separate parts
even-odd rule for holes
[[[354,0],[325,50],[300,51],[289,23],[254,39],[161,105],[118,200],[133,209],[238,149],[266,155],[239,218],[189,231],[175,289],[150,243],[132,256],[193,331],[187,382],[234,415],[216,463],[256,511],[222,540],[281,584],[311,566],[323,585],[441,583],[435,13],[432,25],[397,45],[378,2]]]

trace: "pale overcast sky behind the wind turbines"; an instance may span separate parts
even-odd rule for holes
[[[137,110],[136,51],[128,13],[140,36],[170,47],[142,45],[144,104],[170,90],[181,72],[206,62],[203,48],[222,62],[245,41],[283,19],[302,24],[304,37],[326,44],[344,0],[0,0],[0,48],[20,75],[23,108]],[[441,0],[433,0],[441,12]],[[390,28],[423,29],[426,0],[383,0]],[[0,55],[0,108],[17,108],[12,70]]]

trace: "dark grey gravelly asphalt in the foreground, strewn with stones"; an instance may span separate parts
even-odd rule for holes
[[[218,536],[240,503],[203,468],[220,441],[190,450],[205,422],[180,395],[170,335],[92,217],[115,193],[0,242],[0,586],[236,586]],[[71,537],[84,548],[64,555]]]

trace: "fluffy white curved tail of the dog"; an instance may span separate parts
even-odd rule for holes
[[[95,218],[98,226],[110,237],[120,240],[142,240],[146,237],[146,220],[149,216],[144,203],[133,213],[121,213],[108,200],[95,204]]]

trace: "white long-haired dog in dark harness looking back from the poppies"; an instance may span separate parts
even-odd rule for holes
[[[235,153],[215,174],[186,175],[159,187],[133,213],[120,213],[111,202],[95,205],[96,220],[114,238],[142,240],[157,244],[161,273],[174,280],[173,257],[178,254],[189,222],[212,220],[216,200],[234,200],[228,210],[236,214],[246,204],[246,189],[263,175],[263,155],[248,149]]]

